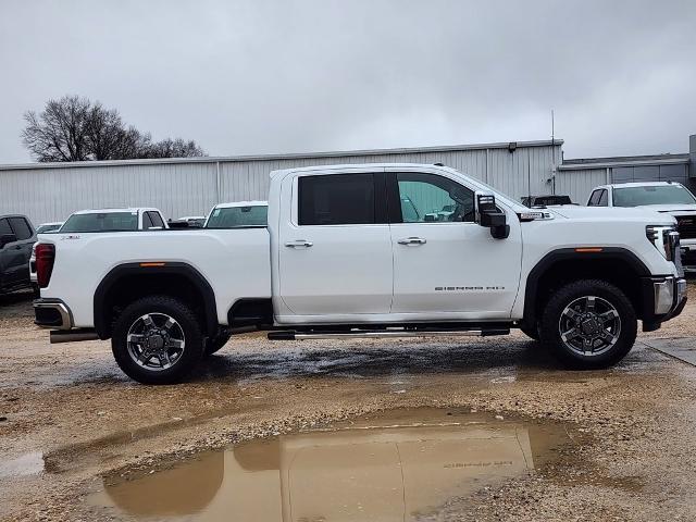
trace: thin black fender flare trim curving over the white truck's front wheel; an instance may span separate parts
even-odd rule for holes
[[[635,253],[622,247],[601,247],[598,252],[576,252],[575,248],[559,248],[544,256],[530,271],[524,288],[523,321],[525,324],[536,323],[536,296],[539,279],[555,264],[568,260],[602,260],[627,263],[639,277],[650,276],[650,271]]]

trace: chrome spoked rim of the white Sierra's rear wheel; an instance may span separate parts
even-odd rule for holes
[[[184,355],[186,336],[178,322],[166,313],[146,313],[136,319],[126,337],[130,359],[147,370],[161,372]]]

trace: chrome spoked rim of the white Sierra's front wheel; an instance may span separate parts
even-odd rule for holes
[[[610,350],[619,340],[621,318],[606,299],[584,296],[563,309],[558,332],[567,348],[585,357],[596,357]]]

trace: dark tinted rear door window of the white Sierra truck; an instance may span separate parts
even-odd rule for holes
[[[302,176],[298,186],[300,225],[375,223],[373,174]]]

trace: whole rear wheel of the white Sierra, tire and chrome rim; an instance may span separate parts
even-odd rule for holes
[[[194,312],[166,296],[146,297],[126,307],[114,325],[111,347],[116,363],[144,384],[185,378],[203,352],[203,335]]]

